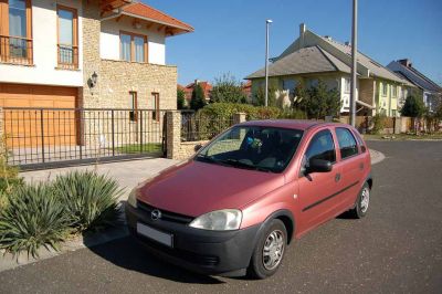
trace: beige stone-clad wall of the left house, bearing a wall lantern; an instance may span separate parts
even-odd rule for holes
[[[177,66],[102,60],[99,3],[83,0],[83,87],[78,106],[129,108],[129,92],[137,92],[138,108],[154,108],[152,93],[159,94],[160,109],[177,109]],[[97,84],[91,87],[96,73]]]

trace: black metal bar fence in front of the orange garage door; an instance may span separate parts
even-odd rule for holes
[[[3,108],[9,164],[23,169],[158,157],[165,154],[165,111]]]

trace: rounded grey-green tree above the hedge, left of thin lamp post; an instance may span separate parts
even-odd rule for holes
[[[230,73],[215,78],[210,101],[214,103],[245,103],[246,96],[242,85]]]

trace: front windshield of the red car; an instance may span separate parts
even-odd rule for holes
[[[202,148],[194,160],[234,168],[282,172],[301,141],[298,129],[236,126]]]

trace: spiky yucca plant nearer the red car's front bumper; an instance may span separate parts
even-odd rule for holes
[[[53,187],[78,232],[118,223],[118,197],[123,190],[114,179],[94,171],[73,171],[57,176]]]

